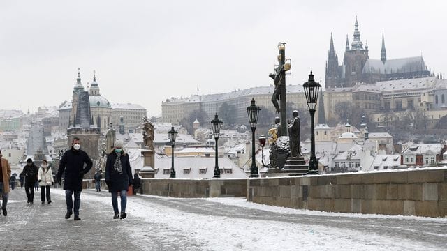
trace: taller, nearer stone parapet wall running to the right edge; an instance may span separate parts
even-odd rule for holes
[[[447,215],[447,168],[247,181],[247,200],[342,213]]]

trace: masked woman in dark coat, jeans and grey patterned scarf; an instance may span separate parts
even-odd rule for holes
[[[123,142],[117,140],[112,152],[107,156],[105,164],[105,183],[112,193],[114,219],[126,218],[127,190],[132,184],[132,169],[129,155],[123,151]],[[118,210],[118,192],[121,197],[121,217]]]

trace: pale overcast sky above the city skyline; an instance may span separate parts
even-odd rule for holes
[[[0,109],[70,100],[81,68],[112,103],[269,86],[277,44],[292,61],[287,84],[325,77],[330,33],[342,63],[358,16],[369,58],[423,55],[447,76],[447,1],[6,1],[0,0]],[[324,86],[324,83],[321,83]],[[198,91],[199,90],[199,91]]]

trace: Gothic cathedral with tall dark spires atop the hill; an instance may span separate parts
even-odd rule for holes
[[[422,56],[387,59],[383,33],[381,59],[369,59],[368,46],[365,45],[364,47],[360,40],[357,17],[351,46],[349,45],[349,38],[346,36],[342,65],[338,63],[332,33],[330,35],[328,61],[326,61],[325,88],[354,86],[358,82],[374,84],[375,82],[392,79],[429,76],[430,70],[427,69]]]

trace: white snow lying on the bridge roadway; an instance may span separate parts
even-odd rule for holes
[[[54,190],[64,195],[63,190]],[[138,198],[140,197],[140,198]],[[175,231],[196,240],[199,250],[430,250],[424,243],[402,240],[393,236],[366,234],[360,231],[305,225],[272,220],[253,220],[214,215],[187,213],[181,209],[171,208],[151,202],[151,198],[176,200],[171,197],[155,197],[139,195],[128,199],[127,213],[130,217],[138,217],[159,225],[163,231]],[[181,200],[181,199],[180,199]],[[343,215],[350,217],[388,218],[407,216],[360,215],[347,213],[325,213],[303,211],[291,208],[279,208],[261,204],[248,203],[241,198],[211,198],[204,201],[218,202],[231,206],[255,208],[263,211],[273,211],[278,214],[311,214],[311,215]],[[110,197],[82,193],[82,201],[94,201],[110,206]],[[81,206],[82,208],[82,206]],[[181,208],[181,206],[179,206]],[[417,218],[424,220],[425,218]],[[432,219],[447,222],[445,218]],[[141,238],[144,229],[129,227],[133,234]],[[163,231],[159,234],[162,238]],[[136,244],[141,239],[135,238]]]

